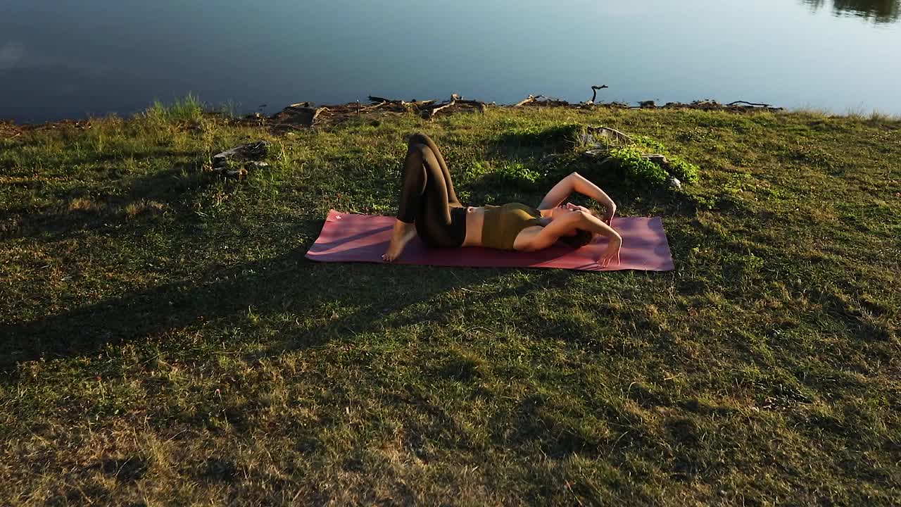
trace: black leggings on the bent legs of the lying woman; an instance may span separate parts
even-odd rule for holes
[[[413,134],[407,144],[397,219],[415,224],[429,246],[460,246],[466,240],[466,208],[453,191],[438,146],[425,134]]]

